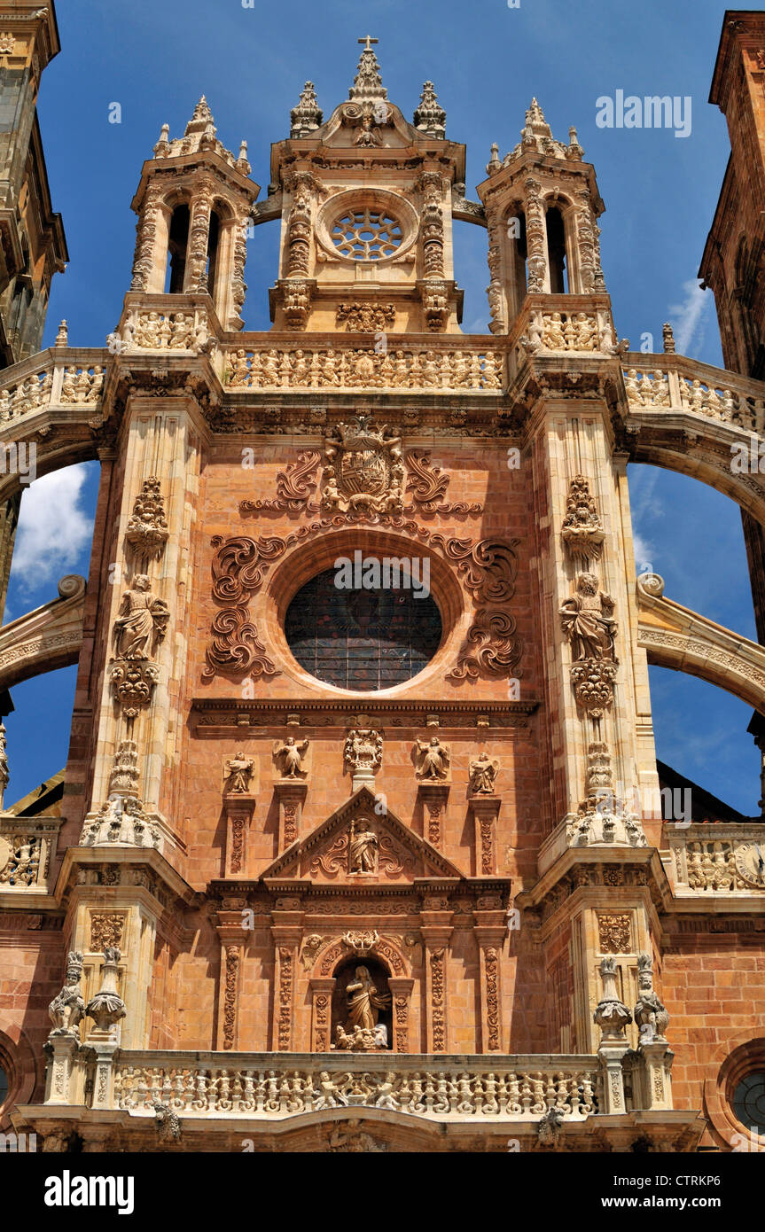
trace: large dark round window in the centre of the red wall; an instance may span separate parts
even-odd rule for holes
[[[423,671],[439,649],[442,625],[435,600],[414,575],[399,577],[405,586],[386,585],[387,559],[372,562],[381,570],[379,585],[345,589],[338,585],[338,570],[325,569],[292,599],[285,637],[317,680],[358,692],[392,689]]]

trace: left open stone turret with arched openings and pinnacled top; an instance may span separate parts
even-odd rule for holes
[[[209,293],[224,329],[241,329],[246,225],[259,187],[246,142],[239,156],[216,136],[202,96],[182,137],[163,126],[133,198],[138,214],[131,291]]]

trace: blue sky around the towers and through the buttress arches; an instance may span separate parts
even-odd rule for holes
[[[468,196],[485,177],[492,142],[503,156],[519,140],[533,95],[556,137],[575,124],[606,203],[602,261],[618,335],[637,349],[650,331],[660,349],[670,318],[678,350],[719,365],[714,306],[711,292],[698,292],[696,271],[729,152],[724,118],[707,103],[724,7],[714,0],[521,0],[517,9],[506,0],[59,2],[63,51],[43,76],[39,118],[71,264],[53,283],[46,345],[62,317],[75,346],[101,345],[115,328],[136,234],[129,205],[164,122],[180,136],[206,94],[222,140],[238,150],[248,139],[265,196],[270,143],[287,136],[303,83],[314,81],[326,117],[352,84],[356,39],[371,33],[388,96],[405,116],[423,81],[435,83],[447,136],[468,147]],[[691,134],[597,128],[597,97],[620,89],[690,96]],[[115,102],[118,124],[108,122]],[[259,227],[250,241],[249,329],[270,324],[277,230]],[[455,248],[463,328],[484,333],[485,233],[456,224]],[[94,463],[62,472],[25,495],[6,620],[54,598],[62,574],[87,572],[96,471]],[[664,575],[666,594],[754,637],[738,508],[685,477],[629,471],[639,556]],[[662,669],[652,669],[652,694],[658,755],[754,813],[759,756],[745,731],[749,708]],[[63,766],[73,696],[74,669],[14,690],[10,801]]]

